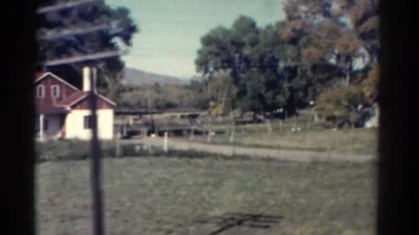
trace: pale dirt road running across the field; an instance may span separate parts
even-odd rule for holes
[[[163,148],[163,138],[147,137],[144,139],[128,139],[123,140],[123,144],[141,143],[146,146],[156,146]],[[343,153],[320,153],[307,150],[280,150],[273,148],[251,148],[243,146],[229,146],[223,144],[203,144],[197,142],[189,142],[181,139],[169,139],[169,149],[176,150],[196,150],[208,153],[216,153],[221,155],[249,155],[252,157],[269,157],[278,158],[289,161],[369,161],[376,159],[374,155],[354,155]]]

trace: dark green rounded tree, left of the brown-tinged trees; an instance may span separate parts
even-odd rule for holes
[[[253,19],[240,16],[229,29],[210,30],[201,38],[197,71],[216,74],[214,77],[229,73],[236,88],[234,108],[278,109],[289,96],[285,73],[278,67],[279,58],[291,61],[296,56],[292,45],[278,38],[278,27],[280,24],[259,28]]]

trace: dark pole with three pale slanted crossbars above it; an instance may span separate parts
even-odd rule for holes
[[[82,5],[102,3],[102,0],[74,0],[68,1],[66,3],[58,3],[55,5],[45,6],[37,10],[37,14],[48,14],[49,12],[56,12],[59,10],[65,10],[70,8],[79,8]],[[70,38],[75,35],[88,34],[98,30],[121,30],[112,28],[112,22],[106,25],[96,25],[89,28],[81,29],[81,27],[73,27],[72,29],[66,29],[62,32],[45,32],[45,35],[39,36],[39,40],[44,41],[55,41],[59,38]],[[117,32],[117,31],[116,31]],[[87,50],[86,50],[87,51]],[[77,54],[68,58],[59,58],[48,60],[43,63],[43,67],[47,66],[57,66],[57,65],[74,65],[75,63],[83,63],[87,65],[92,61],[100,60],[104,58],[118,57],[125,54],[119,50],[105,51],[105,52],[94,52],[88,54]],[[90,62],[89,62],[90,61]],[[92,187],[92,210],[93,210],[93,234],[94,235],[103,235],[104,225],[103,225],[103,197],[102,197],[102,172],[101,172],[101,150],[98,137],[98,120],[96,115],[97,110],[97,91],[96,91],[96,79],[97,79],[97,70],[96,67],[83,67],[83,78],[90,80],[90,111],[91,111],[91,124],[92,124],[92,137],[90,142],[91,150],[91,187]]]

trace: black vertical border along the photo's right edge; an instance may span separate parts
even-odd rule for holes
[[[377,234],[418,232],[418,36],[411,1],[379,1]],[[416,232],[415,232],[416,231]]]

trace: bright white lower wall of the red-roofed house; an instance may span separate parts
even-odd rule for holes
[[[113,139],[114,137],[114,111],[101,109],[96,112],[98,117],[99,139]],[[89,110],[72,110],[65,120],[65,137],[68,139],[85,139],[92,136],[90,129],[84,128],[84,116],[90,115]]]

